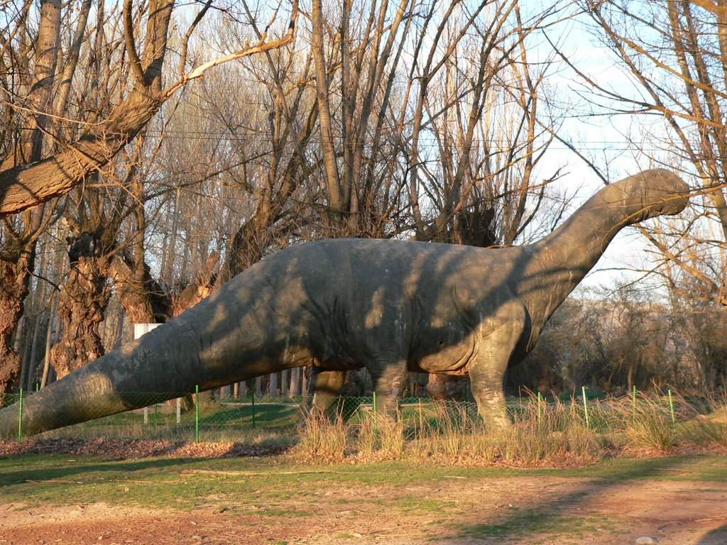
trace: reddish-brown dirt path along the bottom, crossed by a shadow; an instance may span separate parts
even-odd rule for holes
[[[727,544],[727,481],[453,476],[409,488],[344,490],[323,483],[313,514],[311,498],[294,495],[222,508],[217,500],[192,513],[0,503],[0,545],[600,545],[635,544],[640,536],[660,545]]]

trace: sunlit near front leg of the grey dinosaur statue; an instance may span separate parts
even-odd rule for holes
[[[523,333],[525,310],[522,304],[503,304],[492,318],[483,320],[473,361],[467,366],[470,372],[472,393],[477,411],[489,431],[497,432],[513,427],[507,415],[502,381],[510,356]]]

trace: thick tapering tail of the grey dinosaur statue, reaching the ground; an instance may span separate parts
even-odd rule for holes
[[[212,325],[204,320],[215,312],[219,315],[223,306],[202,302],[29,395],[23,402],[23,436],[144,407],[150,403],[144,394],[153,393],[157,401],[172,399],[193,392],[195,385],[205,390],[283,368],[280,361],[259,357],[254,335],[244,342],[229,335],[230,320],[224,328],[215,326],[215,320]],[[208,325],[196,326],[200,322]],[[0,439],[17,436],[18,412],[15,406],[0,411]]]

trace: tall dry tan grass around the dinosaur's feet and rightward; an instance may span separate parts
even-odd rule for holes
[[[727,411],[710,402],[704,416],[683,397],[631,397],[590,402],[538,402],[513,411],[512,429],[484,427],[473,405],[426,403],[398,421],[364,411],[356,423],[316,419],[301,429],[294,456],[304,459],[437,459],[512,466],[590,464],[622,453],[670,453],[690,447],[727,448]],[[672,421],[673,418],[673,421]]]

